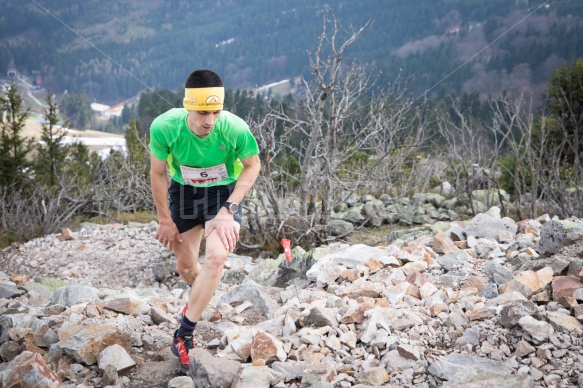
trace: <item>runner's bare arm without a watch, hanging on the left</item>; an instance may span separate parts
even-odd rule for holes
[[[164,246],[170,247],[174,240],[182,242],[178,228],[172,221],[170,209],[168,208],[168,178],[166,176],[166,161],[156,158],[150,154],[150,184],[152,186],[152,197],[158,213],[158,230],[156,239]]]

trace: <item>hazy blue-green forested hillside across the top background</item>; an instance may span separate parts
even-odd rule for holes
[[[418,94],[542,90],[558,66],[583,53],[579,0],[0,0],[0,6],[2,74],[40,71],[54,92],[83,92],[105,103],[147,88],[178,88],[202,67],[217,70],[233,89],[310,77],[307,51],[316,48],[325,9],[345,29],[372,21],[349,54],[380,71],[380,85],[401,73]]]

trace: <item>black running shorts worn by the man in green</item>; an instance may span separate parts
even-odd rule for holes
[[[233,192],[235,183],[222,186],[194,187],[182,185],[175,180],[170,183],[170,214],[180,233],[202,225],[215,218],[221,206]],[[241,204],[240,204],[241,205]],[[243,206],[234,215],[239,224],[242,221]]]

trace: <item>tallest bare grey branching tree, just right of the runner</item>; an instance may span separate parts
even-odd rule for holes
[[[325,13],[310,55],[314,78],[302,80],[298,109],[289,114],[274,108],[254,126],[266,149],[257,186],[269,193],[256,202],[270,215],[263,224],[269,218],[275,234],[284,230],[319,243],[337,238],[327,229],[334,207],[351,194],[408,175],[404,160],[423,144],[423,104],[414,106],[400,83],[375,89],[368,68],[347,57],[368,25],[343,35],[334,15]],[[298,161],[297,174],[271,163],[278,153]],[[293,184],[281,183],[288,180]]]

